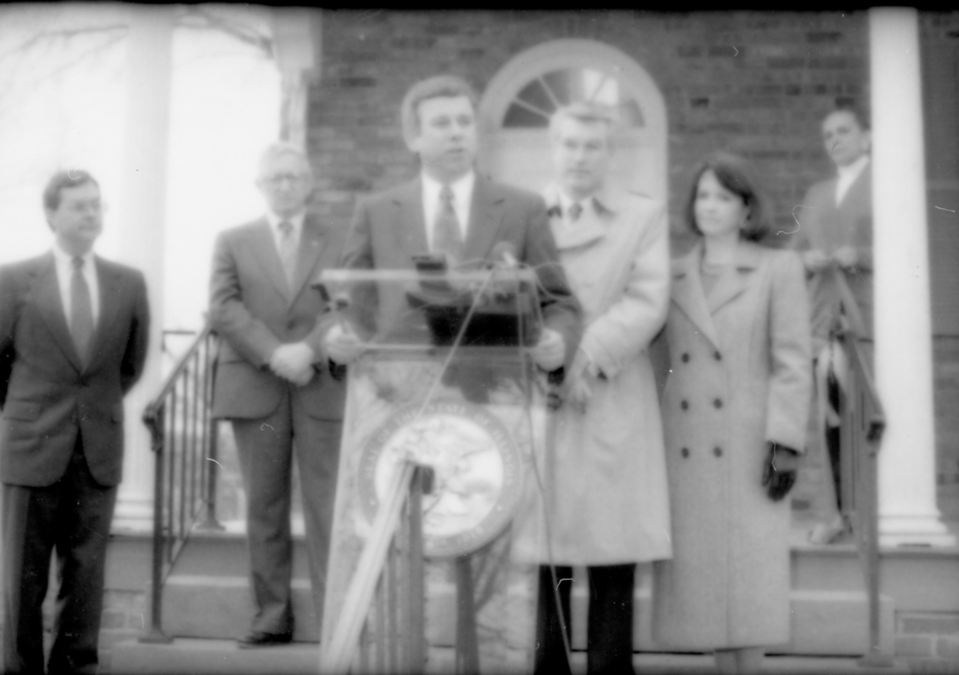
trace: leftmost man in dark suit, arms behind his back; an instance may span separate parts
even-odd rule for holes
[[[43,673],[51,551],[59,593],[51,673],[93,673],[104,562],[123,465],[123,397],[140,377],[143,275],[93,254],[100,187],[60,172],[43,194],[51,253],[0,268],[4,659]]]

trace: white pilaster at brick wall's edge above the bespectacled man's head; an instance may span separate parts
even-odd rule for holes
[[[303,148],[310,82],[320,72],[319,22],[318,10],[284,9],[272,14],[273,48],[283,86],[280,133]]]

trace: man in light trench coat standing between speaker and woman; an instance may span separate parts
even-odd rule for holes
[[[570,672],[572,566],[587,566],[590,576],[588,672],[633,672],[636,563],[672,555],[663,430],[646,353],[669,302],[667,213],[657,200],[609,184],[615,124],[613,111],[596,104],[560,108],[550,122],[556,178],[545,197],[585,330],[547,467],[540,673]]]

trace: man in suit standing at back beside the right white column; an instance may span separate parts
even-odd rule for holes
[[[823,143],[837,175],[809,188],[798,210],[800,228],[792,246],[807,270],[812,349],[816,363],[817,445],[823,440],[830,457],[835,505],[842,508],[838,405],[846,377],[843,353],[835,338],[840,314],[859,337],[873,332],[873,195],[869,165],[870,131],[852,108],[839,108],[823,120]],[[837,513],[817,525],[810,540],[839,541],[850,524]]]

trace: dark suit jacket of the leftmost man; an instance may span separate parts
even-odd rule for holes
[[[96,257],[100,286],[84,368],[59,296],[53,253],[0,268],[0,479],[44,487],[63,476],[77,433],[98,483],[123,474],[123,396],[147,357],[147,287],[136,269]]]

